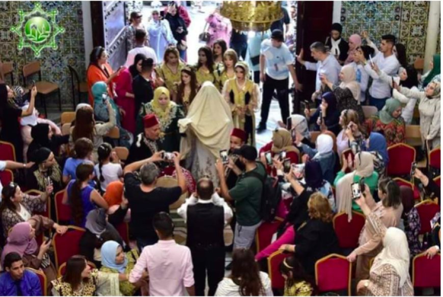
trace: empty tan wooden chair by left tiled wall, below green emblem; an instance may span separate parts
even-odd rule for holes
[[[39,95],[41,95],[41,100],[43,101],[43,108],[45,110],[46,117],[48,115],[47,110],[46,110],[46,97],[53,92],[56,92],[56,91],[58,92],[59,110],[62,111],[62,98],[60,96],[60,87],[56,83],[47,82],[46,80],[42,80],[42,71],[40,68],[40,61],[34,61],[34,62],[28,63],[23,66],[23,85],[29,86],[29,84],[26,84],[27,77],[34,75],[36,73],[38,73],[38,75],[39,75],[39,81],[36,82],[37,92]]]

